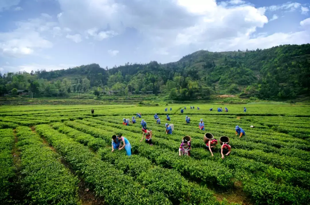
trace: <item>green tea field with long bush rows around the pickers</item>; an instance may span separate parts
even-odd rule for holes
[[[310,203],[309,105],[190,106],[1,106],[0,199],[4,204]],[[142,118],[136,124],[122,125],[137,112]],[[156,124],[155,113],[162,124]],[[172,135],[165,133],[166,114],[174,124]],[[201,118],[205,131],[198,128]],[[139,142],[142,119],[154,146]],[[246,136],[235,136],[236,125]],[[221,159],[219,145],[211,156],[203,142],[207,132],[218,140],[230,137],[230,156]],[[125,150],[111,152],[115,133],[129,140],[131,157]],[[184,135],[192,137],[191,157],[178,154]]]

